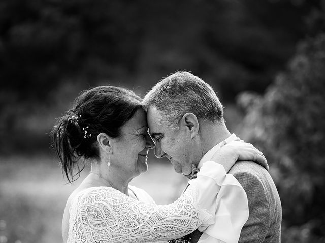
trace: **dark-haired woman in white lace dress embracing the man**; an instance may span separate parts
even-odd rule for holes
[[[141,98],[133,92],[112,86],[84,92],[73,109],[59,119],[52,134],[70,182],[74,168],[79,174],[83,169],[78,163],[87,160],[91,164],[90,174],[67,201],[62,221],[64,242],[169,240],[213,223],[215,199],[211,193],[216,196],[220,189],[217,181],[226,176],[217,163],[205,163],[186,192],[171,205],[157,206],[145,191],[128,186],[147,170],[148,150],[154,147]],[[228,159],[234,164],[236,156],[242,160],[261,156],[252,145],[238,142],[240,154],[233,146],[223,146],[214,160]],[[205,196],[206,188],[212,191],[209,197]]]

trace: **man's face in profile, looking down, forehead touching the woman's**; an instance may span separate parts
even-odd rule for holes
[[[186,126],[180,125],[178,130],[161,124],[161,117],[155,107],[150,107],[147,111],[147,121],[150,134],[155,141],[155,155],[157,158],[167,157],[174,165],[174,170],[183,175],[192,173],[192,163],[194,161],[196,144],[190,137]]]

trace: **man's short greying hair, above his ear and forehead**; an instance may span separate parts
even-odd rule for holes
[[[223,106],[212,87],[201,78],[178,71],[157,83],[144,97],[143,107],[156,107],[162,123],[178,128],[188,112],[213,123],[223,123]]]

